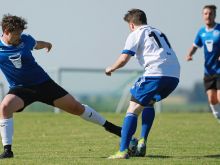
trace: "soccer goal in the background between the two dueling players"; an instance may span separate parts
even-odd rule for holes
[[[143,73],[137,69],[121,69],[111,77],[104,69],[59,68],[57,83],[83,104],[97,111],[124,112],[130,100],[129,89]],[[55,113],[60,110],[55,108]]]

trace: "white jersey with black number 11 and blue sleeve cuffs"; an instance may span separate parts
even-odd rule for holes
[[[135,56],[145,72],[143,76],[180,76],[177,56],[166,36],[149,25],[129,34],[122,54]]]

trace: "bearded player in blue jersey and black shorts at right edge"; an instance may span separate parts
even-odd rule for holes
[[[220,24],[215,22],[216,6],[204,6],[202,16],[205,26],[198,31],[186,60],[193,60],[196,50],[204,47],[204,86],[212,113],[220,120]]]

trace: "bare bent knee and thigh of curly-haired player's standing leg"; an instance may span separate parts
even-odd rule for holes
[[[24,101],[20,97],[14,94],[7,94],[0,104],[1,118],[12,117],[13,112],[22,109],[23,107]]]

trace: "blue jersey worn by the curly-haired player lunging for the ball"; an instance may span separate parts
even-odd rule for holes
[[[0,41],[0,68],[10,88],[37,85],[50,79],[32,56],[31,51],[35,45],[34,38],[26,34],[21,35],[21,43],[18,46]]]

